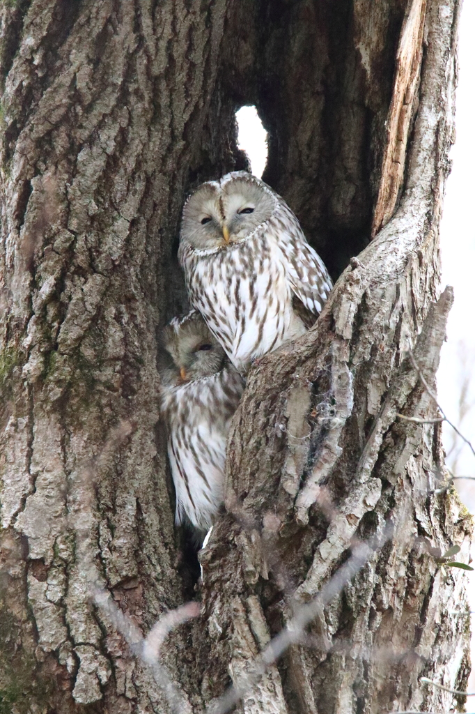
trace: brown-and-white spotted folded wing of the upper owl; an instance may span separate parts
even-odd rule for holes
[[[279,242],[292,291],[312,313],[320,314],[333,287],[322,259],[300,230],[287,233]]]

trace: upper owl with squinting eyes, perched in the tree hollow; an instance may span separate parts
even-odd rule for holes
[[[287,203],[245,171],[188,198],[178,257],[193,307],[241,373],[305,332],[296,302],[316,316],[332,289]]]

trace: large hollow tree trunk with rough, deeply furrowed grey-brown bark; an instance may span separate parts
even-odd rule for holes
[[[451,695],[419,676],[464,688],[464,578],[438,560],[453,544],[468,557],[470,523],[454,493],[434,493],[440,426],[397,418],[436,416],[404,352],[433,385],[458,14],[457,0],[1,4],[2,714],[170,710],[91,605],[83,563],[144,632],[193,595],[156,334],[185,306],[183,198],[245,166],[245,103],[270,132],[265,180],[339,280],[315,328],[252,368],[228,513],[201,555],[203,616],[165,662],[203,711],[353,539],[391,522],[313,645],[239,706],[446,711]]]

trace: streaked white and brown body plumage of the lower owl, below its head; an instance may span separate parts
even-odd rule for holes
[[[175,485],[175,522],[208,530],[223,503],[226,437],[244,382],[232,365],[179,386],[164,386],[162,413]]]

